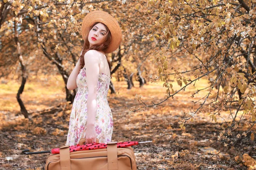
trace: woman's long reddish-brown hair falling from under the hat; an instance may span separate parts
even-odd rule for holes
[[[93,26],[95,26],[97,23],[95,23],[95,24],[93,24]],[[103,24],[103,23],[102,23]],[[104,26],[105,26],[105,24],[103,24]],[[93,26],[90,28],[90,30],[93,28]],[[111,33],[110,33],[110,31],[109,31],[109,29],[108,29],[108,27],[107,26],[105,26],[106,27],[106,29],[107,29],[107,34],[106,34],[106,36],[105,36],[105,39],[103,40],[103,42],[102,42],[102,44],[100,44],[100,45],[93,45],[93,46],[91,46],[91,48],[90,48],[90,42],[88,41],[88,35],[89,35],[89,31],[88,31],[88,34],[87,35],[85,35],[85,40],[84,40],[84,45],[83,45],[83,50],[82,50],[82,54],[81,54],[81,56],[80,56],[80,65],[82,65],[82,67],[84,67],[84,54],[87,52],[87,51],[89,51],[89,50],[97,50],[97,51],[105,51],[107,48],[108,48],[108,46],[109,46],[109,44],[110,44],[110,42],[111,42]],[[109,66],[109,70],[111,70],[111,62],[110,62],[110,60],[108,59],[108,56],[106,55],[106,58],[107,58],[107,60],[108,60],[108,66]]]

